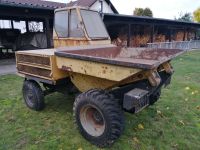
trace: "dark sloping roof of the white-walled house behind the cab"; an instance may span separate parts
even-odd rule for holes
[[[71,1],[67,4],[67,7],[72,6],[83,6],[83,7],[91,7],[97,0],[77,0],[77,1]],[[114,5],[111,3],[110,0],[105,0],[111,7],[114,13],[118,14],[118,11],[114,7]]]

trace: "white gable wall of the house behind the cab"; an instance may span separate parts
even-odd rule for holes
[[[91,7],[90,9],[96,10],[96,11],[101,11],[101,3],[99,0],[97,0]],[[114,13],[108,3],[106,3],[105,0],[103,0],[103,12],[104,13]]]

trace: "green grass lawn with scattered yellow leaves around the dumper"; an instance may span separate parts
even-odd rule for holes
[[[139,114],[126,113],[124,134],[110,149],[200,149],[200,52],[178,57],[173,66],[161,99]],[[0,149],[98,149],[76,129],[73,96],[51,94],[45,110],[34,112],[23,102],[22,82],[15,75],[0,77]]]

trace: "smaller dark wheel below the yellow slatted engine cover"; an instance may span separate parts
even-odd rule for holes
[[[44,109],[44,92],[37,82],[25,80],[22,92],[27,107],[35,111]]]

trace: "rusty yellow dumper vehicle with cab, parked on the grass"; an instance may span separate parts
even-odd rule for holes
[[[183,53],[112,45],[99,13],[80,7],[55,11],[54,46],[16,53],[25,103],[40,111],[45,95],[76,87],[76,124],[99,147],[120,137],[123,111],[138,113],[159,99],[173,74],[171,59]]]

